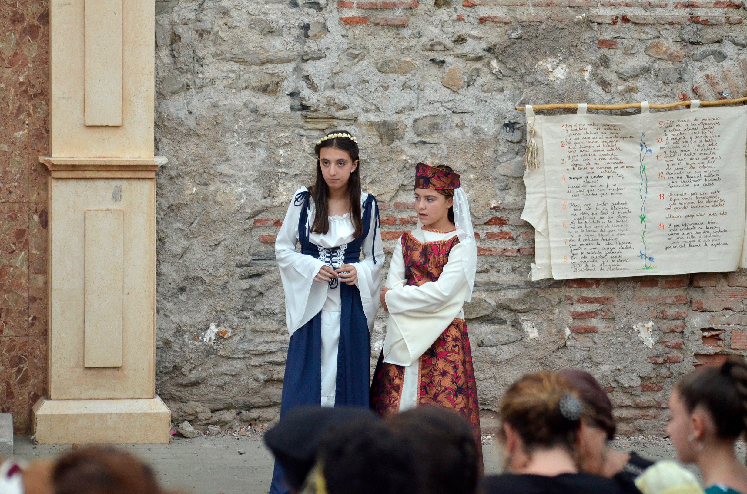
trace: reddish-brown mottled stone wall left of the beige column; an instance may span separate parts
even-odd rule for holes
[[[28,430],[46,394],[46,1],[0,8],[0,413]]]

